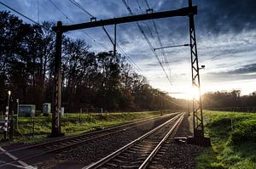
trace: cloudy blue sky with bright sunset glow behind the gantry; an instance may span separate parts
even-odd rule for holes
[[[44,20],[61,20],[64,25],[88,22],[90,16],[77,8],[69,0],[51,0],[66,17],[49,0],[0,0],[32,20],[42,23]],[[133,14],[145,12],[144,0],[125,0]],[[129,15],[122,0],[76,0],[97,20]],[[138,5],[138,3],[139,5]],[[188,0],[148,0],[155,12],[186,7]],[[256,91],[256,2],[253,0],[194,0],[198,6],[195,16],[195,29],[198,45],[199,64],[206,65],[201,70],[201,91],[241,89],[242,94]],[[39,6],[39,18],[38,18]],[[140,9],[140,8],[142,9]],[[1,10],[8,10],[0,5]],[[27,23],[29,20],[22,19]],[[189,25],[187,17],[154,20],[163,46],[189,43]],[[152,20],[139,22],[154,48],[159,43]],[[149,29],[152,31],[151,37]],[[113,26],[106,26],[113,36]],[[93,42],[84,32],[100,42],[106,48]],[[90,50],[95,52],[112,50],[112,44],[101,28],[68,32],[68,37],[82,38],[90,43]],[[117,26],[117,42],[126,54],[133,59],[147,77],[148,82],[156,88],[170,93],[188,93],[191,87],[191,66],[188,47],[166,48],[166,57],[170,62],[171,72],[163,64],[172,85],[167,81],[157,59],[150,50],[142,33],[135,23]],[[161,51],[157,53],[161,59]],[[187,94],[172,94],[184,97]]]

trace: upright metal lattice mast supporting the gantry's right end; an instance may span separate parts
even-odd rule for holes
[[[189,0],[189,8],[192,8],[192,0]],[[192,69],[192,87],[199,93],[198,97],[193,98],[193,125],[194,125],[194,137],[204,136],[203,127],[203,115],[202,115],[202,104],[201,104],[201,86],[199,76],[199,65],[196,48],[195,38],[195,21],[194,14],[189,14],[189,37],[190,37],[190,53],[191,53],[191,69]]]

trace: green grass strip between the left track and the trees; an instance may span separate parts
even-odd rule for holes
[[[61,117],[61,131],[65,135],[76,135],[82,132],[102,129],[104,127],[112,127],[120,124],[139,121],[149,117],[160,116],[158,111],[148,112],[122,112],[106,114],[68,114]],[[34,138],[15,137],[15,142],[33,143],[47,138],[46,135],[51,130],[51,116],[37,116],[34,119],[35,128]],[[32,122],[30,117],[19,118],[20,136],[29,136],[32,133]]]

